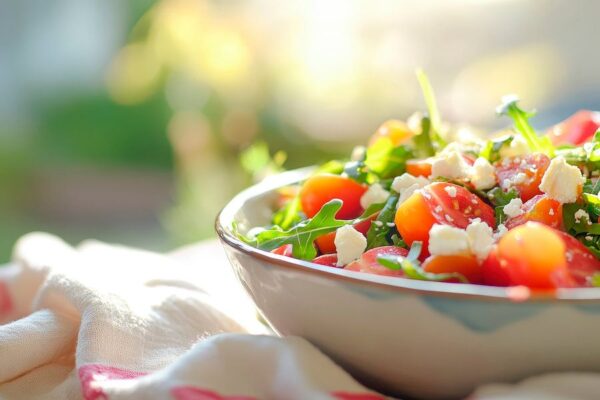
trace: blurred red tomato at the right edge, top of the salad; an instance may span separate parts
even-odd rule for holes
[[[600,128],[600,113],[580,110],[563,122],[553,126],[548,132],[550,140],[555,145],[581,145],[589,141]]]

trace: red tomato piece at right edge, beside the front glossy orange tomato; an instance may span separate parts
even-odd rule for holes
[[[565,232],[557,232],[567,247],[569,275],[576,286],[591,286],[590,278],[600,272],[600,261],[579,240]]]

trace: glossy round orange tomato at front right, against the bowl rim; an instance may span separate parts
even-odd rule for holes
[[[536,222],[508,231],[498,242],[498,259],[511,284],[536,289],[571,286],[566,251],[557,231]]]

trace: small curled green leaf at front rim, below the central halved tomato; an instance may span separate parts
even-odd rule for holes
[[[422,247],[423,243],[416,241],[413,242],[406,257],[381,255],[377,257],[377,262],[379,262],[379,264],[383,265],[384,267],[395,271],[402,270],[410,279],[438,282],[447,281],[449,279],[457,279],[462,283],[469,283],[469,281],[467,280],[467,278],[464,277],[464,275],[459,274],[457,272],[434,274],[423,270],[421,264],[419,263],[419,255],[421,254]]]

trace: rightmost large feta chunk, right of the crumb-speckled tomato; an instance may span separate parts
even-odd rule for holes
[[[567,164],[563,157],[556,157],[544,173],[540,190],[561,203],[574,203],[584,183],[585,178],[579,168]]]

